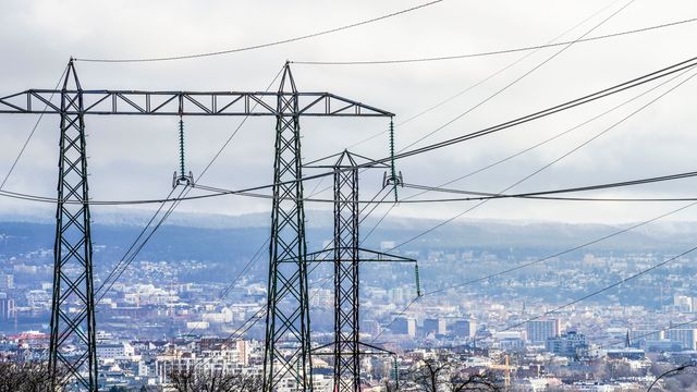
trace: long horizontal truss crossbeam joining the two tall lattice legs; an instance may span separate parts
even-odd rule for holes
[[[394,114],[331,93],[149,91],[28,89],[0,98],[0,113],[59,114],[51,97],[81,94],[82,114],[101,115],[269,115],[392,117]],[[297,110],[278,109],[279,96],[297,98]],[[65,114],[77,114],[76,107]]]

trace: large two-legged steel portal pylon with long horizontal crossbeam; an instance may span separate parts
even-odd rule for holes
[[[61,366],[68,370],[66,379],[83,389],[97,390],[85,115],[273,117],[277,121],[273,194],[277,197],[271,216],[273,241],[269,270],[272,272],[268,287],[264,388],[271,392],[281,380],[290,378],[298,390],[310,390],[307,252],[303,186],[298,181],[302,179],[299,118],[391,118],[393,114],[330,93],[297,91],[288,63],[279,90],[269,93],[83,89],[72,59],[68,68],[60,90],[27,89],[0,97],[0,113],[59,114],[61,119],[51,307],[53,382],[61,381],[56,379],[57,366]],[[61,97],[60,105],[51,101],[54,95]],[[75,268],[77,272],[73,274]],[[69,311],[69,306],[78,311]],[[68,346],[76,347],[70,356],[64,350]]]

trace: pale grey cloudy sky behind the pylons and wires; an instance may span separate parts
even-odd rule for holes
[[[3,1],[0,4],[0,95],[53,87],[70,56],[159,57],[264,44],[378,16],[423,1]],[[464,1],[440,4],[323,37],[199,60],[136,64],[76,64],[85,88],[262,90],[286,59],[381,60],[490,51],[545,44],[603,7],[606,11],[560,40],[574,39],[626,1]],[[697,16],[697,3],[636,0],[589,36]],[[438,142],[575,98],[695,56],[689,49],[697,23],[602,41],[576,44],[501,95],[427,138]],[[398,148],[469,109],[526,73],[560,48],[540,50],[448,105],[398,127]],[[396,122],[506,66],[525,53],[399,65],[294,65],[298,88],[328,90],[390,110]],[[690,73],[692,74],[692,73]],[[651,97],[617,110],[553,143],[452,187],[498,192],[527,175]],[[652,85],[651,85],[652,86]],[[516,187],[534,191],[623,181],[695,170],[694,96],[697,77],[648,109]],[[399,169],[409,183],[439,185],[567,130],[639,90],[572,110],[438,152],[408,158]],[[9,170],[34,115],[0,115],[0,175]],[[96,199],[157,198],[170,189],[176,168],[174,118],[87,118],[90,191]],[[185,119],[187,163],[197,174],[240,119]],[[302,124],[306,160],[340,151],[386,130],[386,120],[307,120]],[[9,191],[52,196],[58,160],[58,122],[46,117],[5,185]],[[252,119],[200,182],[239,188],[271,181],[273,121]],[[387,135],[355,148],[379,158]],[[364,198],[377,191],[382,173],[363,174]],[[329,185],[325,182],[320,188]],[[602,196],[694,196],[695,181]],[[314,183],[306,184],[311,191]],[[404,195],[409,191],[404,189]],[[328,195],[328,194],[326,194]],[[431,195],[426,195],[431,196]],[[435,195],[432,195],[435,196]],[[396,215],[449,217],[472,204],[401,205]],[[309,206],[321,208],[322,206]],[[492,201],[473,218],[563,221],[635,221],[678,205],[580,204],[535,200]],[[0,199],[0,212],[36,205]],[[264,211],[268,200],[225,197],[187,203],[183,211]],[[326,208],[326,207],[325,207]],[[50,212],[49,212],[50,213]],[[675,219],[697,218],[697,207]]]

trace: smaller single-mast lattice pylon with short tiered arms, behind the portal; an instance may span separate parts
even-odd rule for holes
[[[355,157],[359,156],[344,150],[331,167],[334,171],[333,247],[308,255],[311,261],[331,261],[334,267],[334,342],[331,344],[331,355],[334,360],[335,392],[359,391],[360,355],[376,352],[393,354],[359,341],[360,262],[416,262],[411,258],[359,247],[358,164]],[[317,347],[316,351],[323,347],[328,346]]]

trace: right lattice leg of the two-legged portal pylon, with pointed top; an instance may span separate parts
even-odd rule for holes
[[[290,87],[290,93],[286,88]],[[264,391],[311,391],[298,96],[286,64],[278,95]]]

